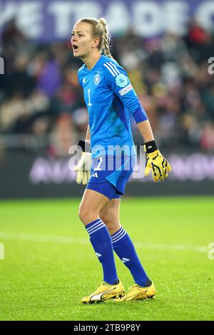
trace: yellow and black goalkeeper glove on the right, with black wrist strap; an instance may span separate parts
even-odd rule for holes
[[[156,147],[156,142],[152,140],[145,143],[144,150],[146,151],[145,175],[148,176],[152,170],[153,180],[155,182],[158,182],[159,179],[166,178],[168,172],[171,171],[171,167]]]

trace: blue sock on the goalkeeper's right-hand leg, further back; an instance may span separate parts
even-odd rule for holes
[[[126,267],[128,267],[136,284],[142,287],[149,286],[150,280],[138,258],[131,238],[123,227],[111,236],[111,242],[114,251]]]

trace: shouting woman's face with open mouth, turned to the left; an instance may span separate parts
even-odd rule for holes
[[[88,56],[94,46],[94,39],[91,36],[91,24],[79,22],[73,27],[71,36],[71,46],[73,48],[73,56],[85,58]]]

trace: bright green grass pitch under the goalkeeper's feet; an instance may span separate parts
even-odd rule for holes
[[[214,319],[214,259],[208,257],[208,244],[214,242],[214,197],[122,200],[121,224],[136,243],[157,295],[121,304],[80,302],[103,278],[78,220],[79,202],[0,202],[1,320]],[[117,256],[116,264],[128,289],[131,274]]]

